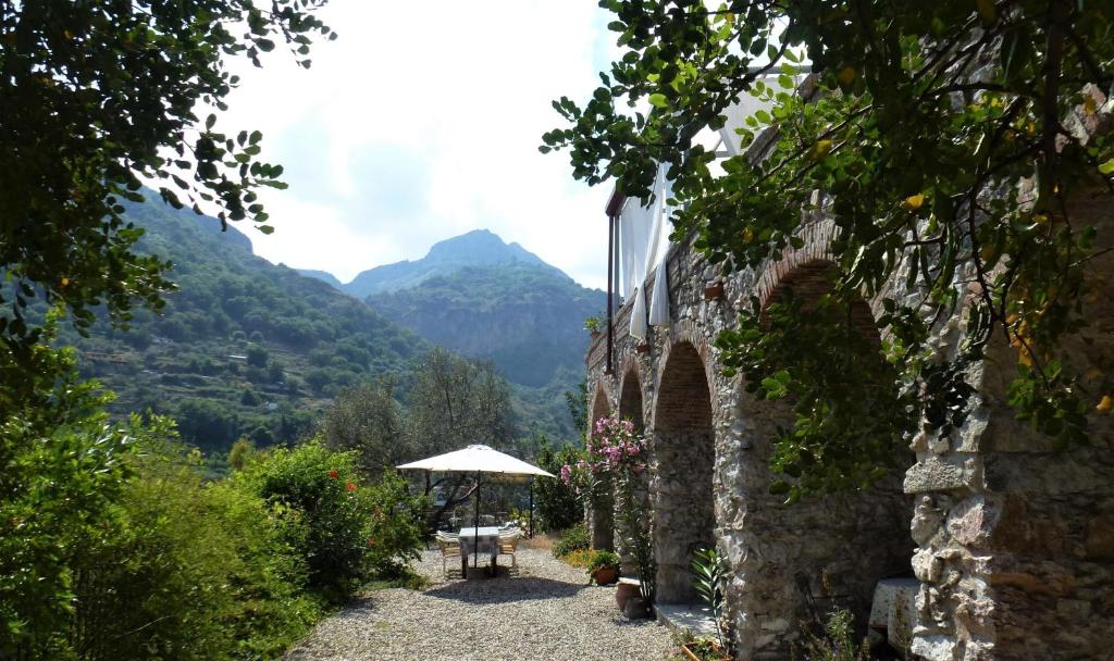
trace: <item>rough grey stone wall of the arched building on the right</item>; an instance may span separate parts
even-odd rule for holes
[[[1076,213],[1107,218],[1111,209],[1079,203]],[[911,438],[911,452],[895,457],[896,468],[879,489],[792,506],[769,494],[770,438],[779,423],[786,423],[788,412],[755,401],[741,378],[724,377],[712,339],[735,323],[752,295],[766,300],[784,283],[794,289],[801,283],[820,286],[805,276],[827,257],[833,235],[830,223],[817,219],[802,235],[803,248],[730,278],[719,278],[691,245],[675,246],[667,268],[670,326],[652,328],[645,343],[636,342],[626,335],[631,306],[625,305],[614,324],[610,374],[604,369],[605,338],[589,349],[589,392],[604,393],[608,411],[619,407],[619,395],[632,383],[628,375],[637,375],[642,420],[654,443],[656,550],[671,568],[664,581],[659,575],[661,584],[670,594],[680,593],[682,565],[687,565],[682,558],[707,529],[705,523],[688,527],[690,519],[681,516],[682,503],[698,511],[707,495],[678,476],[697,472],[711,455],[712,539],[733,570],[727,619],[742,658],[788,658],[805,615],[799,574],[814,593],[821,592],[821,575],[828,576],[860,621],[879,579],[916,575],[921,589],[913,650],[934,661],[1108,655],[1114,640],[1111,418],[1097,421],[1088,446],[1054,451],[1047,440],[1015,423],[1004,403],[1016,364],[1008,347],[998,347],[968,375],[979,392],[964,427],[946,438]],[[1094,260],[1093,268],[1096,277],[1114,274],[1114,253]],[[957,282],[966,277],[957,269]],[[903,282],[900,275],[897,279]],[[705,299],[706,285],[717,280],[724,294]],[[653,276],[645,286],[648,295]],[[891,294],[918,295],[899,287]],[[1114,338],[1110,306],[1110,296],[1092,305],[1097,344],[1081,345],[1079,352],[1108,351]],[[964,322],[959,309],[935,327],[941,356],[954,355]],[[667,422],[701,408],[667,394],[668,359],[677,347],[697,356],[707,381],[710,433],[695,431],[695,423],[671,427]],[[626,416],[637,398],[627,392],[622,399]]]

